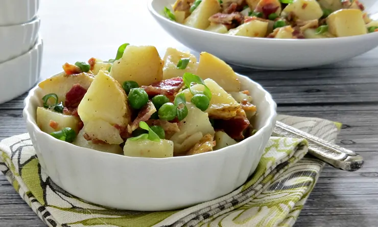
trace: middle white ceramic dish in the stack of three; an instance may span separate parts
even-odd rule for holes
[[[40,19],[25,24],[0,26],[0,63],[28,52],[38,37]]]

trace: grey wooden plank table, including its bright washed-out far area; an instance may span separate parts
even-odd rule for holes
[[[160,54],[167,47],[188,50],[157,25],[146,1],[42,0],[39,12],[43,79],[61,71],[66,61],[113,58],[124,42],[150,44]],[[342,122],[337,143],[366,160],[357,172],[325,167],[295,226],[377,226],[378,49],[316,69],[234,70],[261,83],[273,95],[279,113]],[[25,97],[0,105],[0,140],[27,132],[22,119]],[[3,226],[45,225],[0,173]]]

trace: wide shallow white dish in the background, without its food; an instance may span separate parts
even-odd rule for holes
[[[378,46],[378,32],[328,39],[270,39],[230,36],[178,24],[161,15],[175,0],[149,0],[148,8],[160,26],[186,47],[205,51],[224,61],[265,70],[293,70],[335,63]]]

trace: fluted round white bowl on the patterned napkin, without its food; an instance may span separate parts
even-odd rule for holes
[[[239,79],[254,98],[259,130],[236,145],[192,156],[128,157],[57,140],[36,124],[36,109],[42,106],[39,87],[25,99],[23,116],[42,168],[62,189],[118,209],[178,209],[232,192],[257,167],[275,125],[276,104],[261,85]]]

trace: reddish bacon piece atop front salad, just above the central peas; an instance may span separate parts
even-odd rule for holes
[[[174,100],[174,96],[178,93],[181,87],[184,85],[184,81],[180,77],[162,80],[152,83],[149,86],[141,86],[145,89],[149,96],[165,95],[169,99]]]

